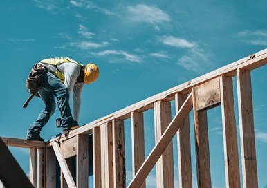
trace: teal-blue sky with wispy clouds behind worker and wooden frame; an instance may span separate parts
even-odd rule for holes
[[[86,124],[267,46],[267,6],[263,0],[14,0],[1,1],[0,5],[3,86],[0,135],[12,138],[25,138],[28,126],[44,106],[34,98],[28,109],[21,107],[28,97],[25,79],[30,67],[40,59],[71,57],[82,64],[98,64],[98,82],[86,86],[82,95],[80,124]],[[252,72],[259,187],[264,188],[267,187],[266,75],[266,67]],[[210,110],[208,115],[212,185],[225,187],[221,108]],[[42,131],[46,140],[60,132],[55,127],[56,118],[58,111]],[[154,146],[153,120],[153,111],[147,111],[146,155]],[[125,124],[129,146],[129,120]],[[192,118],[190,129],[196,185]],[[129,182],[131,148],[126,149]],[[174,139],[178,187],[176,150]],[[28,151],[12,149],[12,152],[28,173]],[[155,171],[147,178],[147,185],[155,187]]]

